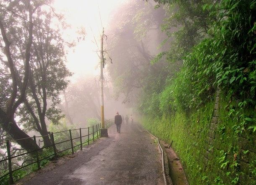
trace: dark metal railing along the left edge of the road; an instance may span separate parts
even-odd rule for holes
[[[110,125],[108,125],[110,126]],[[34,139],[35,149],[30,152],[22,153],[21,149],[17,149],[16,151],[11,151],[11,146],[16,145],[16,141],[6,141],[0,143],[1,148],[3,149],[3,145],[6,145],[5,153],[7,152],[7,157],[5,155],[4,159],[0,160],[0,165],[2,168],[2,173],[0,174],[0,182],[4,177],[9,176],[9,183],[13,184],[13,172],[17,170],[23,169],[25,167],[31,166],[35,164],[33,167],[40,169],[44,162],[49,159],[57,159],[57,156],[64,151],[72,151],[74,154],[74,150],[82,150],[83,145],[86,145],[94,141],[95,138],[99,138],[100,136],[100,124],[94,125],[88,128],[79,128],[79,129],[70,129],[64,130],[60,132],[50,133],[49,135],[44,136],[33,136],[31,138]],[[40,138],[50,137],[52,142],[51,145],[42,147],[37,149],[36,146],[40,146]],[[28,139],[28,138],[24,138]],[[38,143],[38,144],[37,144]],[[5,147],[4,147],[5,148]],[[47,153],[43,153],[43,151],[48,151]],[[3,152],[3,150],[2,150]],[[44,156],[47,154],[47,156]],[[32,168],[33,168],[32,167]],[[5,170],[3,170],[5,169]],[[0,171],[0,172],[1,172]],[[4,172],[3,172],[4,171]],[[16,179],[17,180],[17,179]],[[0,183],[1,184],[1,183]]]

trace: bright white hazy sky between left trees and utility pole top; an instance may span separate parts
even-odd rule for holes
[[[100,74],[100,59],[95,51],[100,47],[102,26],[108,26],[112,12],[125,2],[128,0],[55,0],[55,8],[65,14],[67,22],[72,26],[72,30],[67,34],[76,37],[75,33],[79,27],[83,26],[86,29],[85,40],[79,42],[74,51],[69,52],[67,56],[66,65],[75,73],[73,79],[78,76],[94,77]],[[94,42],[94,36],[98,47]]]

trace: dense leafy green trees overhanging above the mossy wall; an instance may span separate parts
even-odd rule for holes
[[[170,49],[158,58],[166,54],[167,62],[183,60],[182,70],[166,87],[173,107],[189,112],[203,106],[221,85],[231,94],[244,93],[243,98],[254,93],[249,85],[254,84],[249,82],[254,78],[254,67],[250,73],[248,66],[254,65],[251,27],[255,1],[154,1],[158,7],[165,6],[168,17],[162,28],[167,39],[174,37]]]

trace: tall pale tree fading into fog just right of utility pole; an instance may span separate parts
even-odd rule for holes
[[[154,5],[143,1],[129,1],[115,13],[109,40],[110,76],[118,89],[125,94],[123,102],[129,102],[143,88],[151,88],[152,82],[165,83],[167,67],[164,63],[151,65],[155,50],[162,39],[160,24],[163,10],[154,10]],[[160,37],[160,38],[159,38]]]

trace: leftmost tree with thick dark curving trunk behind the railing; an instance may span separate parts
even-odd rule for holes
[[[18,106],[21,105],[22,102],[24,102],[24,99],[26,97],[26,89],[28,86],[28,79],[29,79],[29,61],[30,61],[30,50],[31,50],[31,45],[32,45],[32,35],[33,35],[33,23],[32,23],[32,6],[30,1],[27,1],[27,6],[25,8],[25,5],[21,9],[24,10],[24,13],[26,13],[26,16],[29,18],[29,22],[26,23],[26,33],[27,35],[22,35],[23,36],[23,48],[24,50],[22,51],[23,57],[18,57],[13,55],[13,52],[16,53],[18,52],[17,47],[14,46],[13,43],[17,43],[16,38],[10,37],[8,33],[12,33],[12,31],[17,31],[20,30],[13,30],[11,27],[12,22],[16,22],[12,18],[12,13],[7,12],[6,10],[5,15],[2,15],[0,18],[0,29],[1,29],[1,43],[4,42],[4,46],[1,46],[2,53],[5,54],[5,57],[7,58],[6,60],[3,60],[3,56],[1,57],[2,63],[5,65],[5,67],[8,67],[8,70],[5,70],[8,72],[6,75],[9,76],[9,81],[8,81],[8,86],[10,89],[7,91],[10,93],[8,94],[7,98],[3,99],[6,102],[1,103],[1,106],[4,105],[4,107],[0,107],[0,121],[3,129],[11,135],[13,139],[21,139],[21,138],[29,138],[29,135],[27,135],[23,130],[21,130],[16,121],[15,121],[15,112],[18,108]],[[13,2],[9,5],[8,8],[18,10],[15,6],[17,5],[17,2]],[[3,12],[3,11],[2,11]],[[25,25],[24,25],[25,26]],[[13,51],[13,52],[12,52]],[[16,61],[16,59],[18,61]],[[17,67],[16,65],[21,63],[24,63],[23,70],[24,73],[22,76],[18,77],[16,76],[17,74]],[[22,80],[20,81],[21,78]],[[18,83],[20,83],[20,88],[18,86]],[[5,92],[7,92],[5,91]],[[28,140],[19,140],[18,143],[27,151],[31,151],[34,149],[34,141],[32,139]]]

